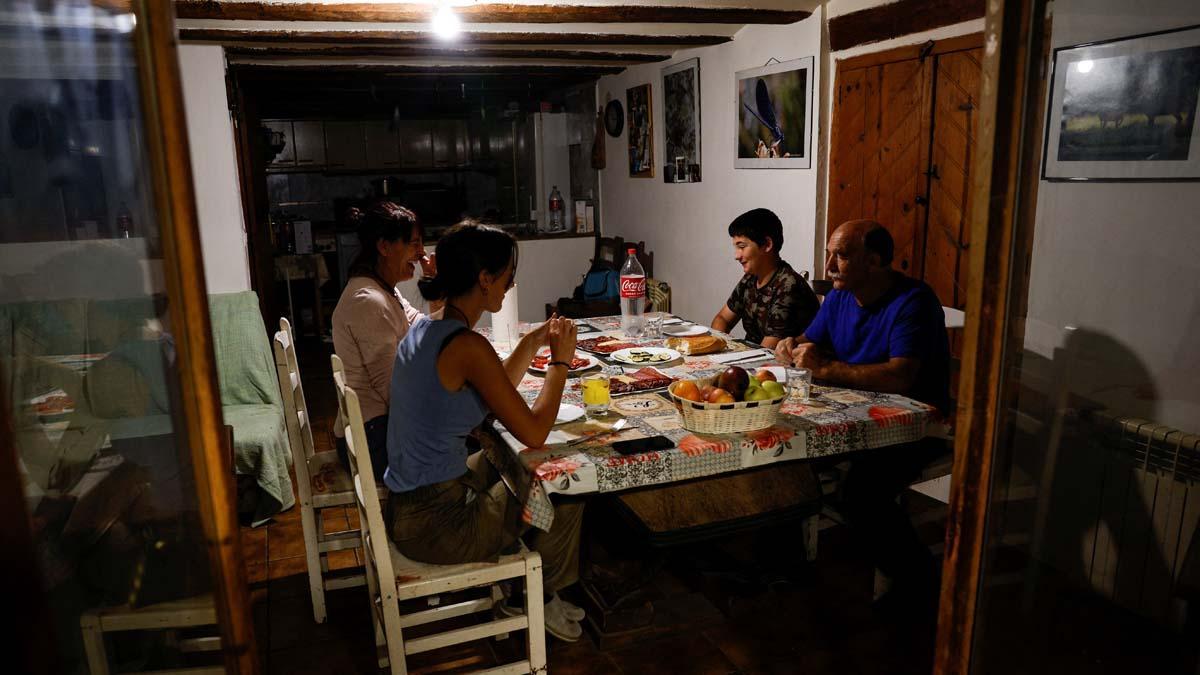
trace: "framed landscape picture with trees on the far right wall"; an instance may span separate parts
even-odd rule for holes
[[[1054,53],[1042,177],[1200,180],[1200,26]]]

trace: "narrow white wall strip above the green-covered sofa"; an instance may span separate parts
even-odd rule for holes
[[[224,49],[180,46],[179,70],[208,291],[248,291],[250,262],[238,184],[238,154],[226,94]]]

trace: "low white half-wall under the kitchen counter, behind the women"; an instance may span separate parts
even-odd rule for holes
[[[595,252],[595,239],[578,237],[570,239],[530,239],[518,244],[520,261],[517,264],[517,317],[521,321],[539,322],[546,318],[546,303],[554,303],[583,281],[592,253]],[[427,251],[436,247],[427,246]],[[416,289],[416,280],[397,286],[400,294],[413,306],[428,312],[428,303]],[[492,324],[488,313],[480,319],[481,327]]]

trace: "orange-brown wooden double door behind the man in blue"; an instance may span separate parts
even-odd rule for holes
[[[971,142],[980,36],[839,61],[829,157],[828,229],[882,223],[895,269],[964,309]]]

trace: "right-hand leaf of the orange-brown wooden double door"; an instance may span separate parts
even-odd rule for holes
[[[942,304],[962,309],[967,288],[971,150],[978,126],[983,49],[937,56],[929,167],[924,280]]]

